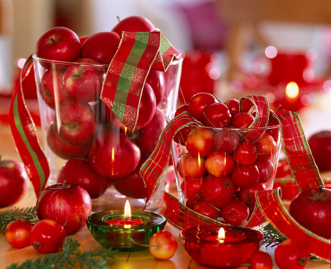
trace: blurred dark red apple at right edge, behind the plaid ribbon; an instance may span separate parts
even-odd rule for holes
[[[308,144],[319,171],[331,170],[331,131],[311,135]]]

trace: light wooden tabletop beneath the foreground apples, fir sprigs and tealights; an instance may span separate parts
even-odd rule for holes
[[[13,139],[11,137],[11,132],[8,125],[0,124],[0,154],[2,155],[2,159],[16,159],[20,160],[18,157]],[[28,194],[24,197],[23,200],[19,201],[15,205],[12,205],[7,208],[1,208],[0,212],[7,211],[14,207],[22,208],[22,207],[31,207],[35,206],[36,196],[30,187]],[[179,239],[179,230],[172,227],[170,224],[166,224],[165,230],[169,231],[176,238],[178,242],[178,249],[175,255],[169,260],[157,260],[150,253],[149,250],[141,250],[136,252],[118,252],[118,261],[114,264],[111,264],[109,268],[114,269],[136,269],[136,268],[144,268],[144,269],[199,269],[205,268],[199,266],[195,261],[191,259],[188,253],[183,248],[183,245]],[[94,240],[87,227],[85,226],[81,231],[72,236],[74,239],[78,240],[79,244],[81,244],[81,250],[95,250],[100,248],[101,246]],[[261,248],[265,250],[263,247]],[[266,251],[271,254],[273,257],[273,252],[275,248],[268,248]],[[6,268],[12,263],[20,263],[25,261],[26,259],[37,258],[42,255],[40,252],[33,249],[32,246],[18,249],[11,247],[6,241],[5,236],[0,233],[0,269]],[[242,267],[244,269],[246,267]],[[277,265],[274,267],[278,268]],[[320,260],[312,260],[308,262],[308,269],[327,269],[330,268],[330,264],[327,262],[323,262]]]

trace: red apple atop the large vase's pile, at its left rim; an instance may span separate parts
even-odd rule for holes
[[[38,39],[36,55],[49,60],[73,62],[80,55],[79,38],[66,27],[53,27]]]

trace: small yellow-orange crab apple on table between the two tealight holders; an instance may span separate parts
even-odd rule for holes
[[[152,256],[160,259],[170,259],[177,250],[177,241],[168,231],[160,231],[149,240],[149,251]]]

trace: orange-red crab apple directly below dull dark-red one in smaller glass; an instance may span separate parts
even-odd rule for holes
[[[227,176],[233,170],[234,160],[232,155],[213,150],[206,158],[205,167],[214,176]]]

